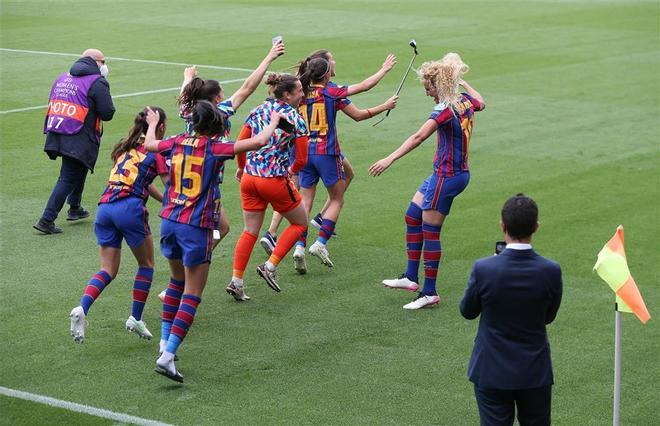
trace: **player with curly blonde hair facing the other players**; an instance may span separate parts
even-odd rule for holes
[[[456,53],[441,60],[425,62],[417,71],[424,83],[426,95],[436,103],[428,120],[399,148],[369,167],[369,174],[379,176],[392,163],[417,148],[434,132],[437,153],[433,173],[421,184],[405,215],[408,265],[397,279],[384,280],[389,288],[419,290],[419,261],[424,251],[424,287],[415,300],[404,309],[420,309],[440,303],[435,284],[442,255],[440,228],[449,214],[451,204],[463,192],[470,180],[468,145],[475,111],[486,107],[483,97],[462,78],[469,67]],[[463,86],[467,93],[460,93]]]

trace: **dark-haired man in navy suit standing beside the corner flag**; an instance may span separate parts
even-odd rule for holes
[[[475,262],[461,314],[481,314],[468,377],[482,425],[549,425],[552,361],[546,324],[557,315],[559,264],[532,250],[539,227],[534,200],[518,194],[504,203],[500,223],[507,243],[497,256]]]

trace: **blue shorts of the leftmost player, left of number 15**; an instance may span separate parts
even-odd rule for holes
[[[99,204],[94,221],[96,241],[103,247],[121,248],[126,239],[129,247],[139,247],[151,235],[149,211],[138,197],[121,198],[112,203]]]

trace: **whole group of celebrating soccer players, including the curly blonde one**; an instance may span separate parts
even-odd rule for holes
[[[218,81],[201,79],[194,67],[187,68],[179,96],[185,128],[181,134],[164,139],[167,117],[159,107],[146,107],[136,115],[128,136],[112,151],[114,166],[94,224],[101,269],[89,280],[80,306],[71,311],[74,341],[84,340],[90,306],[117,275],[123,239],[138,263],[126,327],[140,337],[152,337],[142,320],[154,271],[153,239],[146,209],[151,195],[163,204],[160,248],[171,271],[169,284],[161,293],[160,357],[155,371],[183,381],[174,363],[176,352],[201,302],[213,248],[229,230],[220,184],[225,161],[234,157],[238,162],[236,178],[240,181],[244,230],[234,250],[227,293],[237,301],[250,300],[244,273],[259,240],[268,205],[272,206],[274,215],[260,244],[270,257],[257,267],[258,274],[279,292],[277,267],[294,246],[296,270],[301,274],[307,271],[307,223],[319,180],[328,191],[328,201],[311,221],[319,232],[308,251],[322,264],[333,266],[327,244],[335,233],[344,193],[353,176],[337,137],[336,115],[342,111],[361,121],[395,108],[397,96],[366,109],[359,109],[348,97],[378,84],[394,67],[396,58],[388,55],[374,75],[358,84],[341,86],[331,81],[335,76],[332,54],[327,50],[313,52],[300,62],[297,75],[272,73],[266,77],[270,96],[250,111],[237,141],[230,141],[230,117],[256,90],[269,65],[284,52],[284,43],[281,40],[275,43],[229,98],[225,98]],[[485,106],[481,95],[462,80],[467,70],[467,65],[454,53],[424,63],[418,74],[426,94],[436,104],[433,112],[397,150],[369,168],[371,175],[380,175],[395,160],[437,133],[433,173],[413,196],[405,216],[406,272],[398,279],[383,281],[390,288],[418,291],[418,269],[423,254],[423,288],[413,302],[404,306],[406,309],[432,306],[440,301],[435,289],[441,255],[440,228],[453,198],[468,184],[467,151],[473,114]],[[467,93],[460,93],[459,86]],[[156,176],[165,185],[163,193],[153,184]],[[278,235],[282,218],[289,225]]]

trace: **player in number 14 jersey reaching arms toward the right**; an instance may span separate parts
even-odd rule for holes
[[[396,58],[390,54],[376,74],[351,86],[330,84],[334,67],[324,57],[306,59],[299,70],[300,81],[305,91],[305,98],[299,110],[310,132],[307,165],[300,171],[299,176],[300,192],[309,215],[319,180],[323,181],[328,191],[329,204],[323,217],[319,236],[309,248],[309,253],[318,257],[326,266],[334,266],[330,260],[326,243],[334,234],[346,190],[346,175],[335,125],[337,110],[341,109],[352,119],[361,121],[396,107],[398,96],[392,96],[384,103],[364,110],[358,109],[346,99],[350,95],[362,93],[374,87],[395,64]],[[303,234],[293,255],[296,269],[300,273],[306,271],[305,244],[306,234]]]

